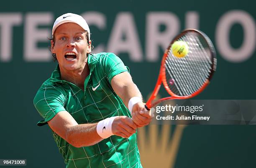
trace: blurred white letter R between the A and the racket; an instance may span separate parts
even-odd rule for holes
[[[160,31],[164,25],[165,30]],[[146,15],[146,60],[156,62],[159,59],[159,46],[165,50],[171,40],[179,33],[178,17],[170,12],[150,12]]]

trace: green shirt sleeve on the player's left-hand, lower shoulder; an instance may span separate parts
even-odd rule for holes
[[[40,88],[33,103],[38,113],[44,118],[37,123],[38,126],[47,124],[47,121],[54,118],[58,112],[66,111],[64,95],[56,88]]]

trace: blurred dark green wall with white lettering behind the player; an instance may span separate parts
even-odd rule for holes
[[[255,99],[255,5],[252,0],[1,2],[0,159],[27,159],[29,168],[64,167],[49,127],[36,126],[41,116],[33,106],[56,66],[47,38],[59,15],[83,15],[94,51],[118,55],[145,99],[154,89],[166,42],[185,28],[205,32],[217,51],[217,71],[196,99]],[[166,96],[163,89],[160,95]],[[254,167],[255,130],[255,125],[188,125],[174,167]]]

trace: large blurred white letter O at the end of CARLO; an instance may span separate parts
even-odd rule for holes
[[[229,33],[236,23],[243,27],[243,43],[240,48],[232,48],[229,41]],[[230,62],[241,63],[250,58],[255,50],[256,26],[255,21],[245,11],[232,10],[225,13],[219,20],[215,32],[216,47],[220,54]]]

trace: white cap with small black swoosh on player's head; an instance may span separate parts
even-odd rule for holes
[[[52,27],[52,35],[54,34],[54,31],[56,28],[63,24],[63,23],[76,23],[77,25],[81,26],[84,30],[88,32],[89,40],[90,40],[90,29],[84,18],[80,15],[74,14],[74,13],[66,13],[64,15],[61,15],[59,18],[57,18],[54,22],[54,26]]]

